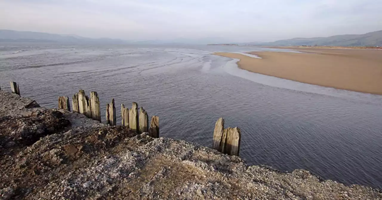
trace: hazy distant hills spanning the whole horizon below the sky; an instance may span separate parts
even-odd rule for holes
[[[78,35],[59,35],[30,31],[0,30],[0,42],[55,42],[55,43],[108,43],[108,44],[228,44],[223,38],[174,38],[173,40],[120,40],[86,38]],[[275,42],[229,43],[262,46],[382,46],[382,30],[362,35],[335,35],[331,37],[293,38]]]

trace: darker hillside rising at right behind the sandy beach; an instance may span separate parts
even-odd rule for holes
[[[248,43],[251,44],[251,43]],[[275,42],[252,43],[265,46],[382,46],[382,30],[362,35],[335,35],[331,37],[293,38]]]

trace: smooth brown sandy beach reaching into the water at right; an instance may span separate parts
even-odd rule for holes
[[[240,59],[251,72],[298,82],[363,93],[382,94],[382,51],[324,48],[289,48],[304,53],[251,52],[262,59],[237,53],[215,55]]]

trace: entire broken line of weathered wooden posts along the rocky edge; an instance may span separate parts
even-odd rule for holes
[[[10,82],[12,93],[20,95],[19,86],[16,82]],[[1,90],[1,88],[0,88]],[[90,99],[85,95],[84,90],[79,90],[72,97],[73,112],[84,114],[101,122],[100,102],[97,92],[90,93]],[[58,97],[58,109],[70,111],[69,98]],[[117,125],[117,115],[115,111],[114,99],[106,106],[106,123],[112,126]],[[159,117],[152,116],[149,126],[149,117],[146,110],[141,107],[138,114],[138,104],[133,102],[131,109],[121,104],[121,123],[138,133],[148,132],[153,138],[159,138]],[[212,148],[228,155],[239,155],[241,133],[240,128],[224,128],[224,119],[219,118],[215,123],[214,140]]]

